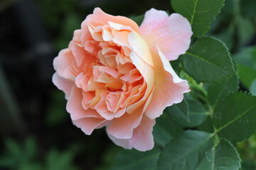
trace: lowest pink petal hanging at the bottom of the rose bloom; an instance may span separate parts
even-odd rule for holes
[[[131,139],[118,139],[107,133],[114,144],[124,147],[125,149],[137,149],[139,151],[147,151],[154,147],[154,137],[152,135],[153,126],[156,123],[155,120],[151,120],[146,116],[143,116],[141,123],[134,129],[134,133]]]

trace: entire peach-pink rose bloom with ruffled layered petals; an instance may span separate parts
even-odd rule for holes
[[[169,60],[186,52],[191,35],[177,13],[151,8],[139,27],[95,8],[53,61],[73,124],[86,135],[106,126],[116,145],[152,149],[155,118],[189,91]]]

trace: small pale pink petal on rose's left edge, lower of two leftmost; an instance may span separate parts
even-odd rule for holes
[[[56,72],[53,74],[53,84],[58,87],[58,89],[64,91],[65,98],[68,100],[71,94],[71,90],[74,86],[74,82],[68,79],[60,77]]]

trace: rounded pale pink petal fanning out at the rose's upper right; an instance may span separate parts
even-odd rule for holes
[[[176,60],[188,50],[193,34],[186,18],[178,13],[168,16],[165,11],[154,8],[146,12],[139,29],[149,47],[158,45],[168,60]]]

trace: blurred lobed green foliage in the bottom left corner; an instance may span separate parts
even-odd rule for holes
[[[14,140],[5,141],[6,150],[0,157],[0,167],[14,170],[78,170],[73,164],[75,152],[68,150],[58,152],[50,149],[46,153],[46,160],[41,161],[39,148],[34,138],[27,138],[23,144]]]

